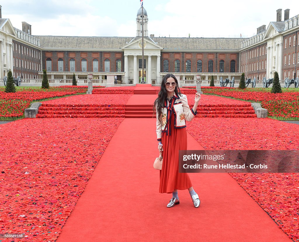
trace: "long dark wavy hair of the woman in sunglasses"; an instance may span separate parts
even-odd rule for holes
[[[154,105],[153,105],[153,110],[158,113],[159,120],[160,120],[161,113],[162,113],[162,107],[164,106],[164,103],[167,99],[167,91],[165,88],[165,83],[169,77],[172,77],[176,81],[176,88],[174,89],[175,94],[177,96],[181,95],[179,83],[178,83],[178,80],[176,79],[176,77],[173,74],[166,74],[162,79],[158,98],[155,100]],[[160,122],[161,122],[161,120],[160,120]]]

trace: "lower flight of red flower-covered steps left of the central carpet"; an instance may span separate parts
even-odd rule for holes
[[[36,118],[103,118],[124,117],[125,105],[43,104]]]

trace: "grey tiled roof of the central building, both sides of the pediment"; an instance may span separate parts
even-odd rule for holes
[[[134,37],[34,36],[42,48],[50,49],[115,49],[119,50]],[[150,38],[149,38],[150,39]],[[236,50],[242,38],[165,38],[152,37],[164,50]]]

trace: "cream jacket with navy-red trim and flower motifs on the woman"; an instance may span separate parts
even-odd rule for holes
[[[163,108],[162,108],[162,114],[160,116],[160,122],[158,118],[158,113],[156,114],[157,116],[157,140],[161,141],[162,137],[162,131],[164,131],[165,125],[167,124],[168,120],[171,117],[172,112],[174,113],[175,117],[175,124],[170,124],[170,122],[167,124],[167,127],[165,129],[165,134],[164,135],[171,135],[171,127],[174,126],[174,128],[185,128],[186,127],[186,121],[191,121],[197,114],[197,111],[194,113],[192,109],[189,108],[188,101],[187,101],[187,96],[184,94],[181,94],[176,96],[174,94],[173,99],[171,101],[166,100]]]

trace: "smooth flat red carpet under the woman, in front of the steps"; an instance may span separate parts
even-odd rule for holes
[[[125,119],[112,137],[57,242],[291,241],[225,173],[190,174],[201,205],[158,193],[154,119]],[[188,149],[202,147],[188,134]]]

